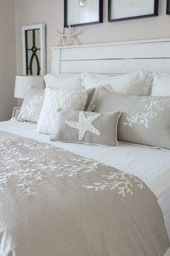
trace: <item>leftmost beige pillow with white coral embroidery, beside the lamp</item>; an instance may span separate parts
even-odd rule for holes
[[[17,117],[18,121],[30,121],[37,123],[42,103],[44,101],[44,89],[30,87],[22,103],[21,111]]]

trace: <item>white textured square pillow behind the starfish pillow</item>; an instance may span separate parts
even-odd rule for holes
[[[51,135],[56,126],[58,108],[84,111],[86,100],[87,92],[84,89],[61,90],[50,87],[45,88],[45,99],[37,122],[37,132]]]

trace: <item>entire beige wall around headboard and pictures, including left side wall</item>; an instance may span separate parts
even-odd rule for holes
[[[15,104],[16,66],[17,74],[22,74],[22,25],[35,23],[47,25],[50,72],[50,47],[58,40],[53,30],[63,29],[63,0],[0,0],[0,121],[11,117]],[[82,31],[79,40],[86,44],[167,38],[170,37],[169,26],[166,0],[159,0],[158,17],[112,23],[107,22],[107,0],[104,0],[104,23],[76,27],[76,30]]]

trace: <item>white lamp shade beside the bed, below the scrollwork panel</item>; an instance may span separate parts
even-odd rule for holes
[[[15,78],[15,98],[24,98],[27,90],[33,86],[35,88],[44,88],[44,79],[40,76],[17,75]]]

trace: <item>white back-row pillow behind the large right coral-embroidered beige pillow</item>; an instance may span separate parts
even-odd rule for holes
[[[81,85],[86,90],[105,85],[109,90],[118,94],[148,95],[153,74],[145,71],[135,71],[115,77],[104,77],[97,74],[83,74]]]

